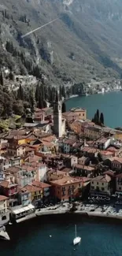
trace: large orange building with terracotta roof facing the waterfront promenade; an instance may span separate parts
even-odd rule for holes
[[[87,177],[66,176],[60,180],[51,181],[54,198],[61,202],[72,201],[82,197],[82,189],[89,183]]]

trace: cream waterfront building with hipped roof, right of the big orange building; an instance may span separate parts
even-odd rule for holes
[[[111,177],[105,174],[105,176],[97,176],[91,180],[91,191],[97,193],[105,193],[109,194],[111,193],[110,188],[110,181]]]

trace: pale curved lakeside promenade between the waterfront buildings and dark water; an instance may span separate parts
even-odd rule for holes
[[[42,208],[35,210],[35,213],[17,220],[17,223],[27,221],[34,217],[41,217],[46,215],[57,215],[57,214],[81,214],[86,217],[106,217],[122,220],[122,206],[111,206],[102,205],[97,206],[94,204],[83,204],[78,203],[76,211],[71,211],[72,205],[65,202],[63,205],[57,205],[54,207]]]

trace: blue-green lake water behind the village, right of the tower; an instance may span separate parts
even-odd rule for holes
[[[99,109],[104,114],[106,126],[122,127],[122,91],[70,98],[66,101],[66,106],[67,110],[76,106],[87,109],[87,118],[90,119]]]

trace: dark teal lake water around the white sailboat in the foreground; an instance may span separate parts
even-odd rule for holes
[[[82,237],[76,247],[72,245],[74,224],[77,224],[78,236]],[[0,242],[2,256],[122,255],[122,222],[83,220],[81,216],[39,217],[10,226],[9,235],[11,241]]]

